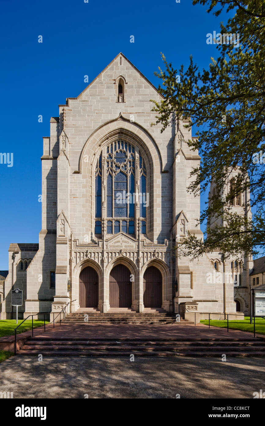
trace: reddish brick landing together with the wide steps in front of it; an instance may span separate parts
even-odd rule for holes
[[[264,356],[265,338],[199,325],[62,323],[34,330],[18,355]]]

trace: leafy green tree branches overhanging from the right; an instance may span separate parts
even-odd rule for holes
[[[162,80],[159,92],[164,99],[152,101],[152,111],[158,113],[155,124],[162,124],[161,132],[173,121],[178,128],[182,118],[189,119],[185,127],[199,128],[197,139],[189,140],[188,145],[199,150],[202,161],[191,172],[188,191],[194,195],[205,192],[213,179],[217,189],[200,218],[200,222],[208,218],[204,242],[189,233],[182,247],[193,259],[214,250],[222,251],[225,258],[236,253],[254,255],[265,247],[265,3],[193,1],[197,3],[208,4],[207,12],[213,11],[215,16],[225,7],[227,12],[236,9],[226,25],[220,23],[220,33],[237,34],[240,44],[234,46],[235,39],[230,39],[231,44],[217,44],[219,57],[211,58],[208,69],[202,71],[192,56],[188,68],[182,65],[177,71],[162,55],[165,70],[155,72]],[[255,164],[260,151],[264,162]],[[234,185],[224,197],[223,188],[235,168]],[[255,206],[248,219],[232,206],[232,200],[245,191],[251,194],[245,209]],[[217,216],[223,225],[213,225]]]

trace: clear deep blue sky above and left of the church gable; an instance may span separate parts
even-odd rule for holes
[[[0,152],[14,154],[13,167],[0,164],[5,270],[10,243],[38,242],[42,138],[49,135],[50,117],[58,116],[58,104],[78,96],[87,86],[84,75],[91,82],[119,52],[155,86],[160,52],[177,68],[190,55],[200,68],[208,67],[217,50],[206,44],[206,34],[218,31],[227,15],[215,18],[191,0],[2,0],[0,16]]]

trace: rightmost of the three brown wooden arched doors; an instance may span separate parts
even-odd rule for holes
[[[143,274],[143,304],[145,308],[162,305],[162,275],[155,266],[149,266]]]

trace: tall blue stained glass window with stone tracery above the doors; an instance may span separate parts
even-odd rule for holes
[[[139,180],[140,231],[146,233],[146,207],[149,199],[146,194],[146,168],[142,155],[126,141],[115,141],[106,147],[95,170],[95,221],[102,219],[102,176],[105,176],[107,234],[120,231],[135,234],[136,176]],[[97,225],[97,230],[100,228]],[[96,232],[95,232],[96,233]]]

